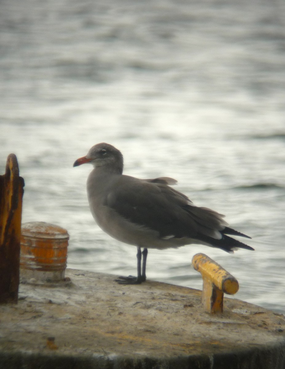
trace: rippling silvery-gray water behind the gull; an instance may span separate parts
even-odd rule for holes
[[[284,3],[4,0],[0,18],[0,173],[14,152],[23,222],[66,228],[69,268],[135,275],[136,249],[90,215],[91,167],[72,168],[109,142],[124,173],[174,177],[253,237],[233,255],[150,250],[149,279],[201,289],[190,262],[204,252],[235,297],[284,313]]]

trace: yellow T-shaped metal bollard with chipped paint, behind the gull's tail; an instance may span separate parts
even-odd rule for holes
[[[235,294],[238,291],[236,278],[205,254],[194,255],[192,265],[202,274],[202,303],[206,311],[222,313],[224,293]]]

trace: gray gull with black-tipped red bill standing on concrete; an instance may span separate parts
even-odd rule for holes
[[[97,144],[73,166],[84,163],[94,166],[87,179],[87,194],[95,221],[110,236],[137,246],[137,278],[120,277],[117,282],[145,281],[148,248],[202,244],[227,252],[237,248],[254,250],[227,236],[250,238],[227,227],[224,215],[195,206],[187,196],[169,187],[176,183],[175,179],[138,179],[123,175],[123,155],[114,146],[104,142]]]

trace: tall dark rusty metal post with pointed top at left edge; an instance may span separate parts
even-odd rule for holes
[[[0,176],[0,303],[17,303],[24,179],[16,155],[7,158]]]

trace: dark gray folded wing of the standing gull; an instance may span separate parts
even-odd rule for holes
[[[161,179],[123,177],[109,193],[106,205],[132,223],[158,231],[161,238],[222,237],[219,231],[226,225],[223,215],[194,206],[187,196],[161,183]]]

